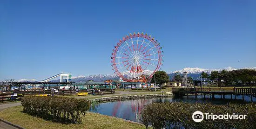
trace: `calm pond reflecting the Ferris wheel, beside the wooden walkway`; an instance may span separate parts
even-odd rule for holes
[[[177,98],[175,96],[171,97],[164,97],[164,98],[147,98],[147,99],[134,99],[134,100],[124,100],[124,101],[115,101],[115,102],[107,102],[107,103],[100,103],[94,108],[91,108],[90,111],[123,118],[126,120],[131,120],[135,122],[140,122],[139,120],[139,113],[142,110],[144,105],[153,103],[153,102],[188,102],[188,103],[211,103],[211,104],[228,104],[232,103],[250,103],[250,97],[244,96],[245,101],[242,100],[242,96],[236,97],[236,101],[230,99],[230,95],[225,96],[225,99],[221,99],[220,95],[216,95],[215,99],[211,99],[209,95],[201,98],[198,96],[195,99],[195,96],[184,96],[183,98]],[[235,98],[234,95],[232,97]],[[256,98],[253,98],[253,102],[256,102]]]

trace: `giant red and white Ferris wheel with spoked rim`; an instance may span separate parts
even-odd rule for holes
[[[160,43],[148,34],[137,33],[123,37],[115,45],[111,56],[113,71],[123,80],[149,78],[162,66],[163,51]]]

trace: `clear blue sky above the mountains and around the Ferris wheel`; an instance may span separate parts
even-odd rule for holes
[[[256,67],[255,0],[0,0],[0,80],[113,74],[133,32],[163,46],[163,70]]]

